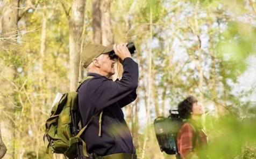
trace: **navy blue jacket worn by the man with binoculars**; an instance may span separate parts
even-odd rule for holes
[[[137,97],[138,64],[127,57],[124,59],[123,69],[123,77],[117,81],[97,73],[88,73],[93,78],[84,82],[79,89],[82,126],[86,125],[96,112],[103,110],[102,136],[98,137],[98,117],[81,136],[86,141],[89,153],[95,153],[98,156],[136,153],[121,108]]]

